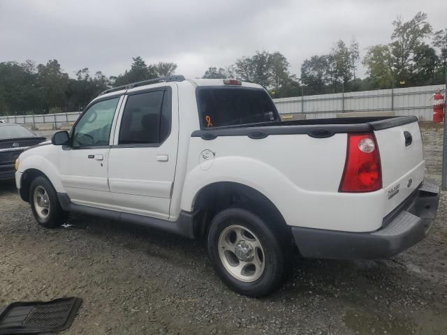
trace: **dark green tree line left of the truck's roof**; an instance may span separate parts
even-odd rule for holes
[[[0,115],[48,114],[82,110],[101,91],[129,82],[173,75],[177,64],[160,62],[147,66],[141,57],[133,58],[131,68],[118,76],[101,71],[91,75],[82,68],[71,78],[57,59],[38,64],[34,61],[0,63]]]

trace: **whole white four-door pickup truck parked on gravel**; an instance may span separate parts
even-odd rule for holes
[[[289,256],[388,258],[422,240],[439,189],[416,117],[282,121],[239,80],[163,77],[104,91],[15,180],[47,228],[69,211],[205,238],[224,283],[278,288]]]

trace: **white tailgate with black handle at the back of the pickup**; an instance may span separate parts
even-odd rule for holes
[[[374,131],[379,147],[386,216],[424,179],[423,143],[417,121]]]

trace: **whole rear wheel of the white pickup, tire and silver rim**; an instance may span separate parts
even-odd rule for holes
[[[281,236],[280,229],[272,229],[247,209],[224,209],[210,223],[208,255],[230,289],[263,297],[279,288],[286,276],[288,255]]]

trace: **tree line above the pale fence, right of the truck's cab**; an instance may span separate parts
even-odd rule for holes
[[[305,59],[300,77],[289,72],[288,61],[281,53],[263,51],[242,57],[227,68],[210,67],[203,78],[237,77],[258,82],[275,98],[303,92],[328,94],[444,84],[447,29],[434,32],[422,12],[406,22],[397,17],[392,27],[390,43],[367,47],[363,59],[355,37],[349,43],[337,40],[327,54]],[[363,79],[356,72],[360,61],[366,69]]]

